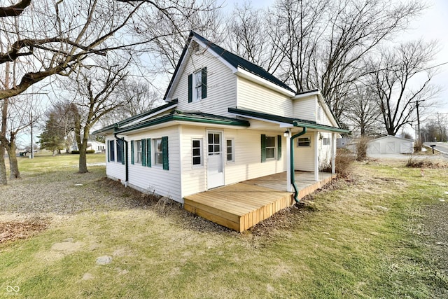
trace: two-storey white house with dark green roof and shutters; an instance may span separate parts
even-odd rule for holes
[[[293,169],[335,169],[339,127],[318,90],[297,93],[267,71],[191,32],[167,104],[97,130],[106,174],[183,197]]]

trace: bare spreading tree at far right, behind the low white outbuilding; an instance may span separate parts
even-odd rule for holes
[[[435,67],[429,64],[436,53],[434,42],[410,41],[383,50],[381,60],[372,61],[380,67],[370,78],[387,134],[395,135],[403,125],[412,124],[416,107],[424,109],[439,91],[430,84]],[[417,85],[414,79],[422,76],[426,80]]]

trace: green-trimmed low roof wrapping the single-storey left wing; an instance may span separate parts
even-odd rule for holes
[[[131,125],[130,127],[124,127],[118,129],[114,133],[122,134],[125,132],[131,132],[135,130],[144,129],[146,127],[152,127],[153,125],[159,125],[161,123],[168,123],[170,121],[188,121],[193,123],[209,123],[212,125],[235,125],[240,127],[248,127],[250,123],[247,120],[239,120],[237,118],[228,118],[225,116],[216,116],[208,113],[183,113],[181,111],[174,111],[174,113],[161,116],[160,118],[154,118],[143,123]]]

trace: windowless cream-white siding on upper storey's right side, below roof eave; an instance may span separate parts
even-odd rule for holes
[[[252,109],[276,116],[293,117],[293,103],[290,97],[245,78],[238,78],[237,106],[241,109]]]

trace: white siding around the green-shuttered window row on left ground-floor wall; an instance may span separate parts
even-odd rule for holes
[[[137,188],[144,192],[156,193],[158,195],[167,196],[183,202],[181,197],[181,167],[179,162],[179,127],[167,127],[161,130],[148,130],[147,132],[134,134],[126,137],[129,142],[131,140],[140,139],[156,139],[161,137],[168,137],[168,157],[169,170],[164,170],[162,167],[141,166],[141,164],[132,165],[129,162],[129,184],[131,187]],[[151,141],[152,143],[152,141]],[[154,146],[151,144],[151,154],[154,153]],[[129,150],[129,161],[131,161],[131,149]]]

